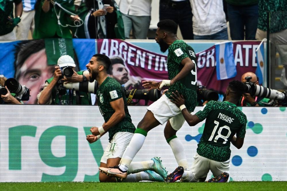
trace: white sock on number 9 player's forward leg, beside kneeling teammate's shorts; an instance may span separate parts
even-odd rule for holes
[[[146,139],[146,136],[140,133],[135,133],[133,135],[120,161],[119,168],[122,171],[128,170],[129,165],[131,164],[131,161],[133,160],[133,158],[135,157],[139,149],[141,149],[142,145],[144,144],[145,139]]]

